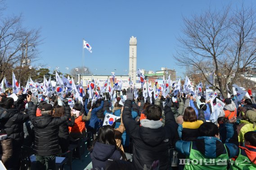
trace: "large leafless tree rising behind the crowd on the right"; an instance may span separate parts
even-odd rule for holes
[[[211,9],[184,18],[183,36],[175,55],[179,65],[193,65],[222,96],[226,85],[240,78],[241,70],[256,61],[256,23],[252,7]],[[216,83],[207,73],[216,74]]]

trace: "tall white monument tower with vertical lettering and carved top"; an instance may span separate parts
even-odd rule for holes
[[[130,38],[129,76],[132,83],[135,84],[137,79],[137,39],[134,36]]]

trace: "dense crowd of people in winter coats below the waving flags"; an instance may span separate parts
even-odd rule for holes
[[[150,99],[137,91],[138,98],[129,88],[90,100],[85,90],[82,101],[71,92],[41,101],[30,91],[18,92],[16,101],[11,92],[1,94],[1,161],[6,169],[21,169],[26,146],[35,152],[36,169],[55,170],[56,155],[67,152],[71,140],[86,139],[93,170],[256,170],[256,102],[250,90],[250,98],[239,103],[234,95],[210,103],[181,92]],[[213,122],[217,99],[225,106]],[[118,119],[103,126],[108,114]]]

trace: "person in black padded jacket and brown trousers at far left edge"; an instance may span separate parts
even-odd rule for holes
[[[24,139],[23,123],[28,119],[28,114],[21,113],[18,108],[24,107],[22,95],[14,102],[13,98],[3,98],[0,102],[0,131],[2,157],[7,169],[19,169],[21,146]],[[23,103],[23,104],[22,104]]]

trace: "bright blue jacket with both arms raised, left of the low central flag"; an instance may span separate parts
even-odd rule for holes
[[[89,109],[87,109],[87,104],[88,104],[88,99],[85,100],[85,112],[88,113]],[[98,122],[98,118],[97,118],[97,112],[103,108],[104,105],[104,101],[101,101],[101,104],[99,107],[92,109],[91,111],[91,118],[88,121],[88,123],[85,123],[86,128],[93,128],[93,129],[97,129],[99,127],[99,122]]]

